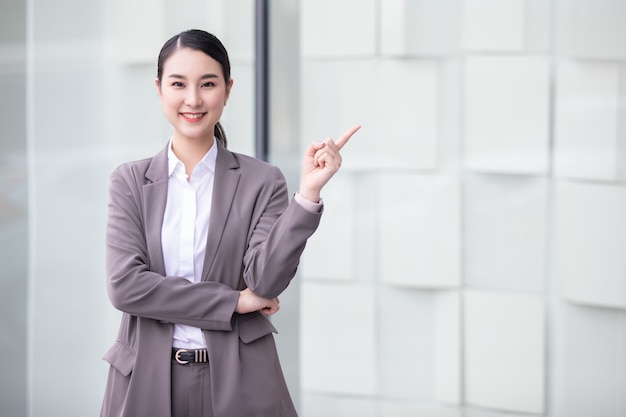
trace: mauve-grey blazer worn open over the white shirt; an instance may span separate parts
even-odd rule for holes
[[[296,416],[270,321],[234,313],[239,290],[273,298],[289,285],[321,213],[292,201],[280,170],[218,147],[202,281],[166,277],[161,226],[167,149],[111,175],[107,290],[123,312],[101,416],[169,417],[173,323],[204,330],[215,417]]]

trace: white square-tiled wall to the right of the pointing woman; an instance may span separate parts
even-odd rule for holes
[[[625,4],[302,1],[306,416],[624,415]]]

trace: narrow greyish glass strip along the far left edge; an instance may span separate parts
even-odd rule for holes
[[[28,364],[28,144],[26,6],[3,1],[0,13],[0,404],[26,416]]]

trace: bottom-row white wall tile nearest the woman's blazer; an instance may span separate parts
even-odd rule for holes
[[[302,295],[302,388],[374,395],[378,390],[374,289],[304,282]]]

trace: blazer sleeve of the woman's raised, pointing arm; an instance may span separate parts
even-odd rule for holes
[[[294,277],[307,239],[317,229],[322,211],[306,210],[289,201],[283,174],[274,167],[275,182],[256,222],[244,256],[244,281],[255,294],[274,298]],[[286,207],[285,207],[286,206]]]

